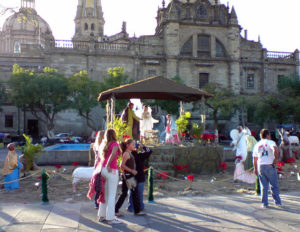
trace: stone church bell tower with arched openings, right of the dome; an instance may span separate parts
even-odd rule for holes
[[[78,0],[73,40],[87,41],[103,36],[104,18],[101,0]]]

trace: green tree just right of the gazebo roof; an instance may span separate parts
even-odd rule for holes
[[[230,118],[235,113],[237,98],[231,90],[223,88],[217,83],[206,84],[204,90],[214,95],[214,97],[208,98],[205,104],[211,111],[215,129],[219,130],[219,120]],[[193,104],[193,110],[199,109],[199,107],[199,102]]]

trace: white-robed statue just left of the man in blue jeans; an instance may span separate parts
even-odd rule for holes
[[[234,129],[230,132],[232,138],[231,145],[234,145],[236,149],[235,158],[236,165],[234,170],[234,180],[253,184],[256,181],[256,176],[253,172],[245,171],[244,162],[247,158],[247,139],[246,135],[249,132],[244,130],[241,126],[238,129]]]

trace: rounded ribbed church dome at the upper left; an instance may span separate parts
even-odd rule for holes
[[[49,24],[37,14],[35,9],[21,8],[19,12],[8,17],[2,27],[2,31],[9,32],[13,31],[17,33],[50,33],[52,30]]]

